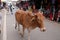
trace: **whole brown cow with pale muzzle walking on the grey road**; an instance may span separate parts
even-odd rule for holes
[[[30,31],[32,29],[35,29],[36,27],[38,27],[41,31],[45,31],[45,27],[44,27],[44,16],[41,14],[41,12],[35,13],[33,14],[32,12],[26,12],[23,10],[18,10],[15,13],[15,18],[16,18],[16,26],[18,24],[18,30],[19,29],[19,24],[21,24],[23,26],[23,35],[24,35],[24,30],[27,29],[28,30],[28,40],[30,40]]]

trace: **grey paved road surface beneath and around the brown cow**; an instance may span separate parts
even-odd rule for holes
[[[15,17],[13,15],[7,15],[7,40],[21,40],[18,31],[14,28]],[[41,32],[38,28],[31,31],[31,40],[60,40],[60,24],[57,22],[44,21],[46,32]],[[25,31],[25,40],[27,40],[27,31]]]

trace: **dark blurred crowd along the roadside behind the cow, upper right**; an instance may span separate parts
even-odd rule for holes
[[[29,1],[20,1],[16,4],[19,8],[23,7],[24,10],[27,10],[35,6],[35,10],[43,11],[43,14],[46,18],[49,18],[51,21],[60,22],[60,0],[29,0]]]

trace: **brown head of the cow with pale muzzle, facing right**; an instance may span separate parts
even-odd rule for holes
[[[46,31],[46,28],[44,27],[44,22],[43,22],[43,15],[34,15],[31,19],[31,22],[36,21],[38,24],[39,28],[41,31]]]

